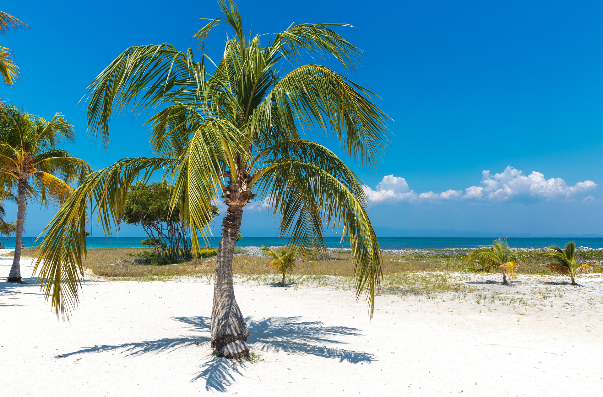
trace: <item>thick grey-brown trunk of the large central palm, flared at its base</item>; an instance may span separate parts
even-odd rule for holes
[[[232,284],[232,256],[241,228],[243,207],[230,205],[222,221],[223,232],[216,256],[213,282],[212,348],[218,357],[240,359],[249,354],[247,324],[235,300]]]

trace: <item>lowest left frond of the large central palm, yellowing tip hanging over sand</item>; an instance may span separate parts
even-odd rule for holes
[[[111,235],[112,225],[119,226],[130,185],[137,179],[148,180],[154,171],[171,167],[173,163],[171,159],[162,158],[127,158],[90,174],[40,233],[46,236],[36,251],[34,272],[43,264],[38,277],[57,317],[69,318],[78,303],[82,260],[86,258],[87,217],[96,212],[98,223],[106,235]],[[94,206],[89,215],[90,202]]]

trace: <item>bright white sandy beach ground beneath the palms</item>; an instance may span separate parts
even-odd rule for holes
[[[11,260],[0,259],[0,276]],[[376,297],[372,321],[350,291],[239,280],[250,348],[263,361],[234,366],[211,354],[207,280],[86,280],[71,323],[57,322],[38,286],[1,282],[0,394],[601,395],[601,275],[579,286],[461,277],[461,294]]]

